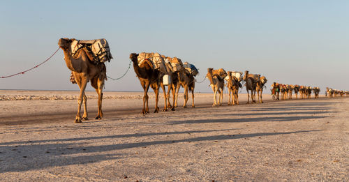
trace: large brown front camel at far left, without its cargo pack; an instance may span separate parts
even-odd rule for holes
[[[87,114],[87,97],[84,93],[87,82],[91,81],[91,86],[96,89],[98,93],[98,113],[96,119],[102,119],[102,99],[104,81],[107,79],[107,69],[104,63],[94,63],[93,56],[89,53],[87,48],[78,50],[73,56],[71,54],[71,43],[74,39],[61,38],[58,41],[59,47],[64,52],[64,60],[66,66],[72,71],[75,81],[80,88],[80,96],[77,98],[77,114],[75,116],[75,123],[82,123],[82,120],[88,120]],[[81,105],[84,104],[84,114],[81,116]]]

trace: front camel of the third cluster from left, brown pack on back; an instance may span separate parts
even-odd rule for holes
[[[214,74],[216,73],[216,74]],[[214,91],[214,104],[212,107],[217,106],[217,92],[219,93],[218,98],[218,105],[222,105],[223,101],[223,91],[224,91],[224,77],[226,77],[228,74],[223,70],[223,68],[220,69],[221,74],[217,74],[218,70],[214,70],[214,68],[207,68],[207,75],[206,77],[209,79],[210,86],[212,88],[212,91]]]

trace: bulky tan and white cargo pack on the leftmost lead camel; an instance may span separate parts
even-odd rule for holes
[[[112,54],[110,53],[109,44],[104,38],[96,40],[76,40],[72,39],[71,53],[73,56],[78,50],[86,47],[89,53],[93,56],[95,63],[110,62]]]

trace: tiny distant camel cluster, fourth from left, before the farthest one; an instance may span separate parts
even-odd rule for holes
[[[299,97],[304,98],[311,98],[311,93],[314,93],[314,98],[319,98],[320,95],[320,88],[319,87],[311,87],[311,86],[299,86],[297,84],[279,84],[274,82],[272,84],[272,98],[273,100],[280,100],[280,93],[281,93],[281,100],[286,99],[293,99],[292,93],[295,93],[295,98],[298,99],[298,93]]]

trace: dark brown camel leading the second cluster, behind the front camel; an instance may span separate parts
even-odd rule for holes
[[[140,84],[142,85],[142,88],[144,90],[144,96],[143,96],[143,109],[142,114],[149,113],[149,107],[148,107],[148,91],[149,86],[151,89],[154,90],[155,93],[155,110],[154,113],[157,113],[159,111],[158,108],[158,91],[160,87],[163,89],[164,94],[164,100],[165,105],[163,111],[168,110],[167,106],[167,96],[166,96],[166,89],[165,85],[162,82],[163,73],[161,73],[159,70],[153,69],[152,63],[149,61],[149,59],[144,59],[140,65],[138,65],[138,55],[136,53],[130,54],[130,59],[133,62],[133,69],[135,70],[135,74],[137,75],[138,79],[140,80]]]

